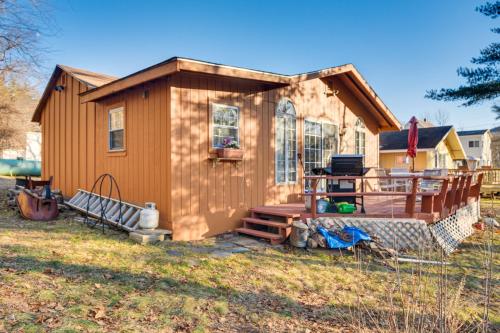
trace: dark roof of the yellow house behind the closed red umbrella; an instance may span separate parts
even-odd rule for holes
[[[418,129],[418,149],[434,149],[450,132],[452,126]],[[408,130],[380,133],[380,150],[405,150],[408,148]]]

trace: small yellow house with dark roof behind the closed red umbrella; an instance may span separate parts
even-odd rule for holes
[[[380,167],[412,167],[406,158],[408,130],[380,134]],[[456,168],[466,155],[453,126],[419,128],[415,170]]]

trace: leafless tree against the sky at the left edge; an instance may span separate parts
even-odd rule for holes
[[[42,37],[54,31],[44,0],[0,0],[0,153],[24,150],[26,132],[38,93],[31,82],[40,78],[48,52]]]

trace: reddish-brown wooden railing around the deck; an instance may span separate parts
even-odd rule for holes
[[[475,178],[475,179],[473,179]],[[477,180],[476,180],[477,179]],[[303,193],[305,196],[311,197],[311,217],[316,218],[323,214],[317,213],[316,198],[319,197],[355,197],[362,200],[362,211],[364,213],[364,198],[368,196],[375,197],[394,197],[399,196],[406,198],[405,214],[407,217],[416,218],[422,216],[426,220],[434,220],[437,218],[445,218],[454,213],[458,208],[466,205],[469,198],[479,197],[481,183],[483,181],[483,173],[465,172],[457,176],[305,176],[304,180],[310,184],[310,191]],[[360,191],[355,192],[328,192],[318,191],[317,187],[320,182],[326,181],[354,181],[355,188],[360,188]],[[365,191],[367,181],[391,180],[409,182],[409,186],[405,186],[405,191]],[[438,182],[438,190],[426,191],[420,187],[422,180]],[[359,187],[358,187],[359,183]],[[417,212],[417,198],[421,198],[420,211]]]

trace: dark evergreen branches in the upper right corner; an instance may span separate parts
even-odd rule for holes
[[[496,19],[500,16],[500,1],[487,2],[476,8],[476,11]],[[500,28],[491,29],[500,34]],[[457,74],[466,80],[466,84],[458,88],[430,90],[425,97],[439,101],[464,101],[462,105],[470,106],[487,100],[495,100],[500,95],[500,43],[491,43],[480,51],[477,58],[472,58],[474,68],[460,67]],[[500,106],[494,105],[492,111],[500,119]]]

